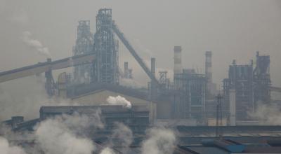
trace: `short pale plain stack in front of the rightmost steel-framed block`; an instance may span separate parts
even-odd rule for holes
[[[230,111],[230,126],[236,125],[236,92],[234,89],[229,90],[229,111]]]

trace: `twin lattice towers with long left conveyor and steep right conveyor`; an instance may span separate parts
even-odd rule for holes
[[[91,34],[90,22],[88,20],[79,21],[73,57],[53,62],[51,62],[51,59],[48,59],[47,62],[1,72],[0,83],[45,72],[46,91],[49,95],[53,95],[53,88],[55,86],[53,86],[54,81],[51,71],[74,66],[74,82],[119,84],[119,45],[115,39],[115,34],[124,43],[138,64],[141,65],[145,73],[148,74],[152,82],[159,87],[155,74],[151,73],[143,59],[141,59],[124,34],[119,30],[115,21],[112,20],[112,9],[108,8],[98,10],[96,34],[94,35]]]

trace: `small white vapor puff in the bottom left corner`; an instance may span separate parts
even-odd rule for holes
[[[1,154],[26,154],[20,146],[11,146],[7,139],[0,137]]]

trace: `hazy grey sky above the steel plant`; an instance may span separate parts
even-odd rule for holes
[[[233,59],[248,64],[260,50],[270,55],[273,84],[281,86],[281,1],[275,0],[0,0],[0,71],[46,59],[23,43],[23,31],[53,59],[70,57],[78,20],[91,20],[94,32],[96,13],[105,7],[140,55],[156,57],[159,68],[173,68],[174,45],[181,45],[183,66],[204,71],[204,52],[211,50],[214,81],[221,83]],[[124,60],[136,79],[145,76],[121,45]]]

